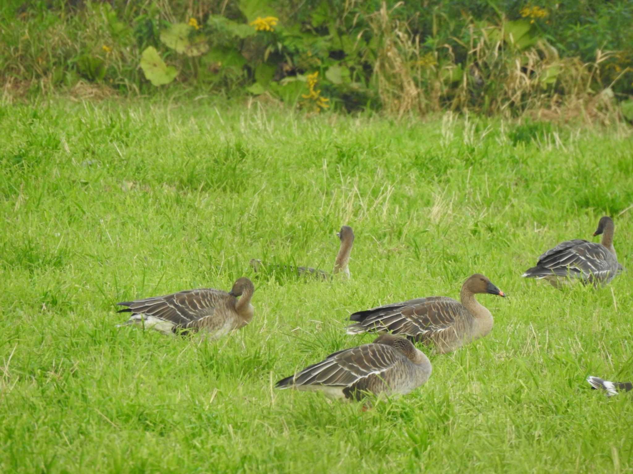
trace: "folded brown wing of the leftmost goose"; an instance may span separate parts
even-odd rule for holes
[[[172,295],[117,304],[128,307],[120,310],[120,313],[144,314],[173,322],[180,327],[187,327],[197,320],[211,317],[218,301],[227,297],[228,293],[216,289],[190,289]]]

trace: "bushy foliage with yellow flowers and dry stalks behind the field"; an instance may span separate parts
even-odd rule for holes
[[[624,0],[10,0],[0,78],[6,93],[196,88],[310,111],[596,116],[617,100],[633,119],[632,20]]]

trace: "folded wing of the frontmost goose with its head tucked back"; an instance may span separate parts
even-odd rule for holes
[[[327,356],[294,376],[295,385],[349,387],[372,374],[382,374],[402,355],[386,344],[363,344]]]

